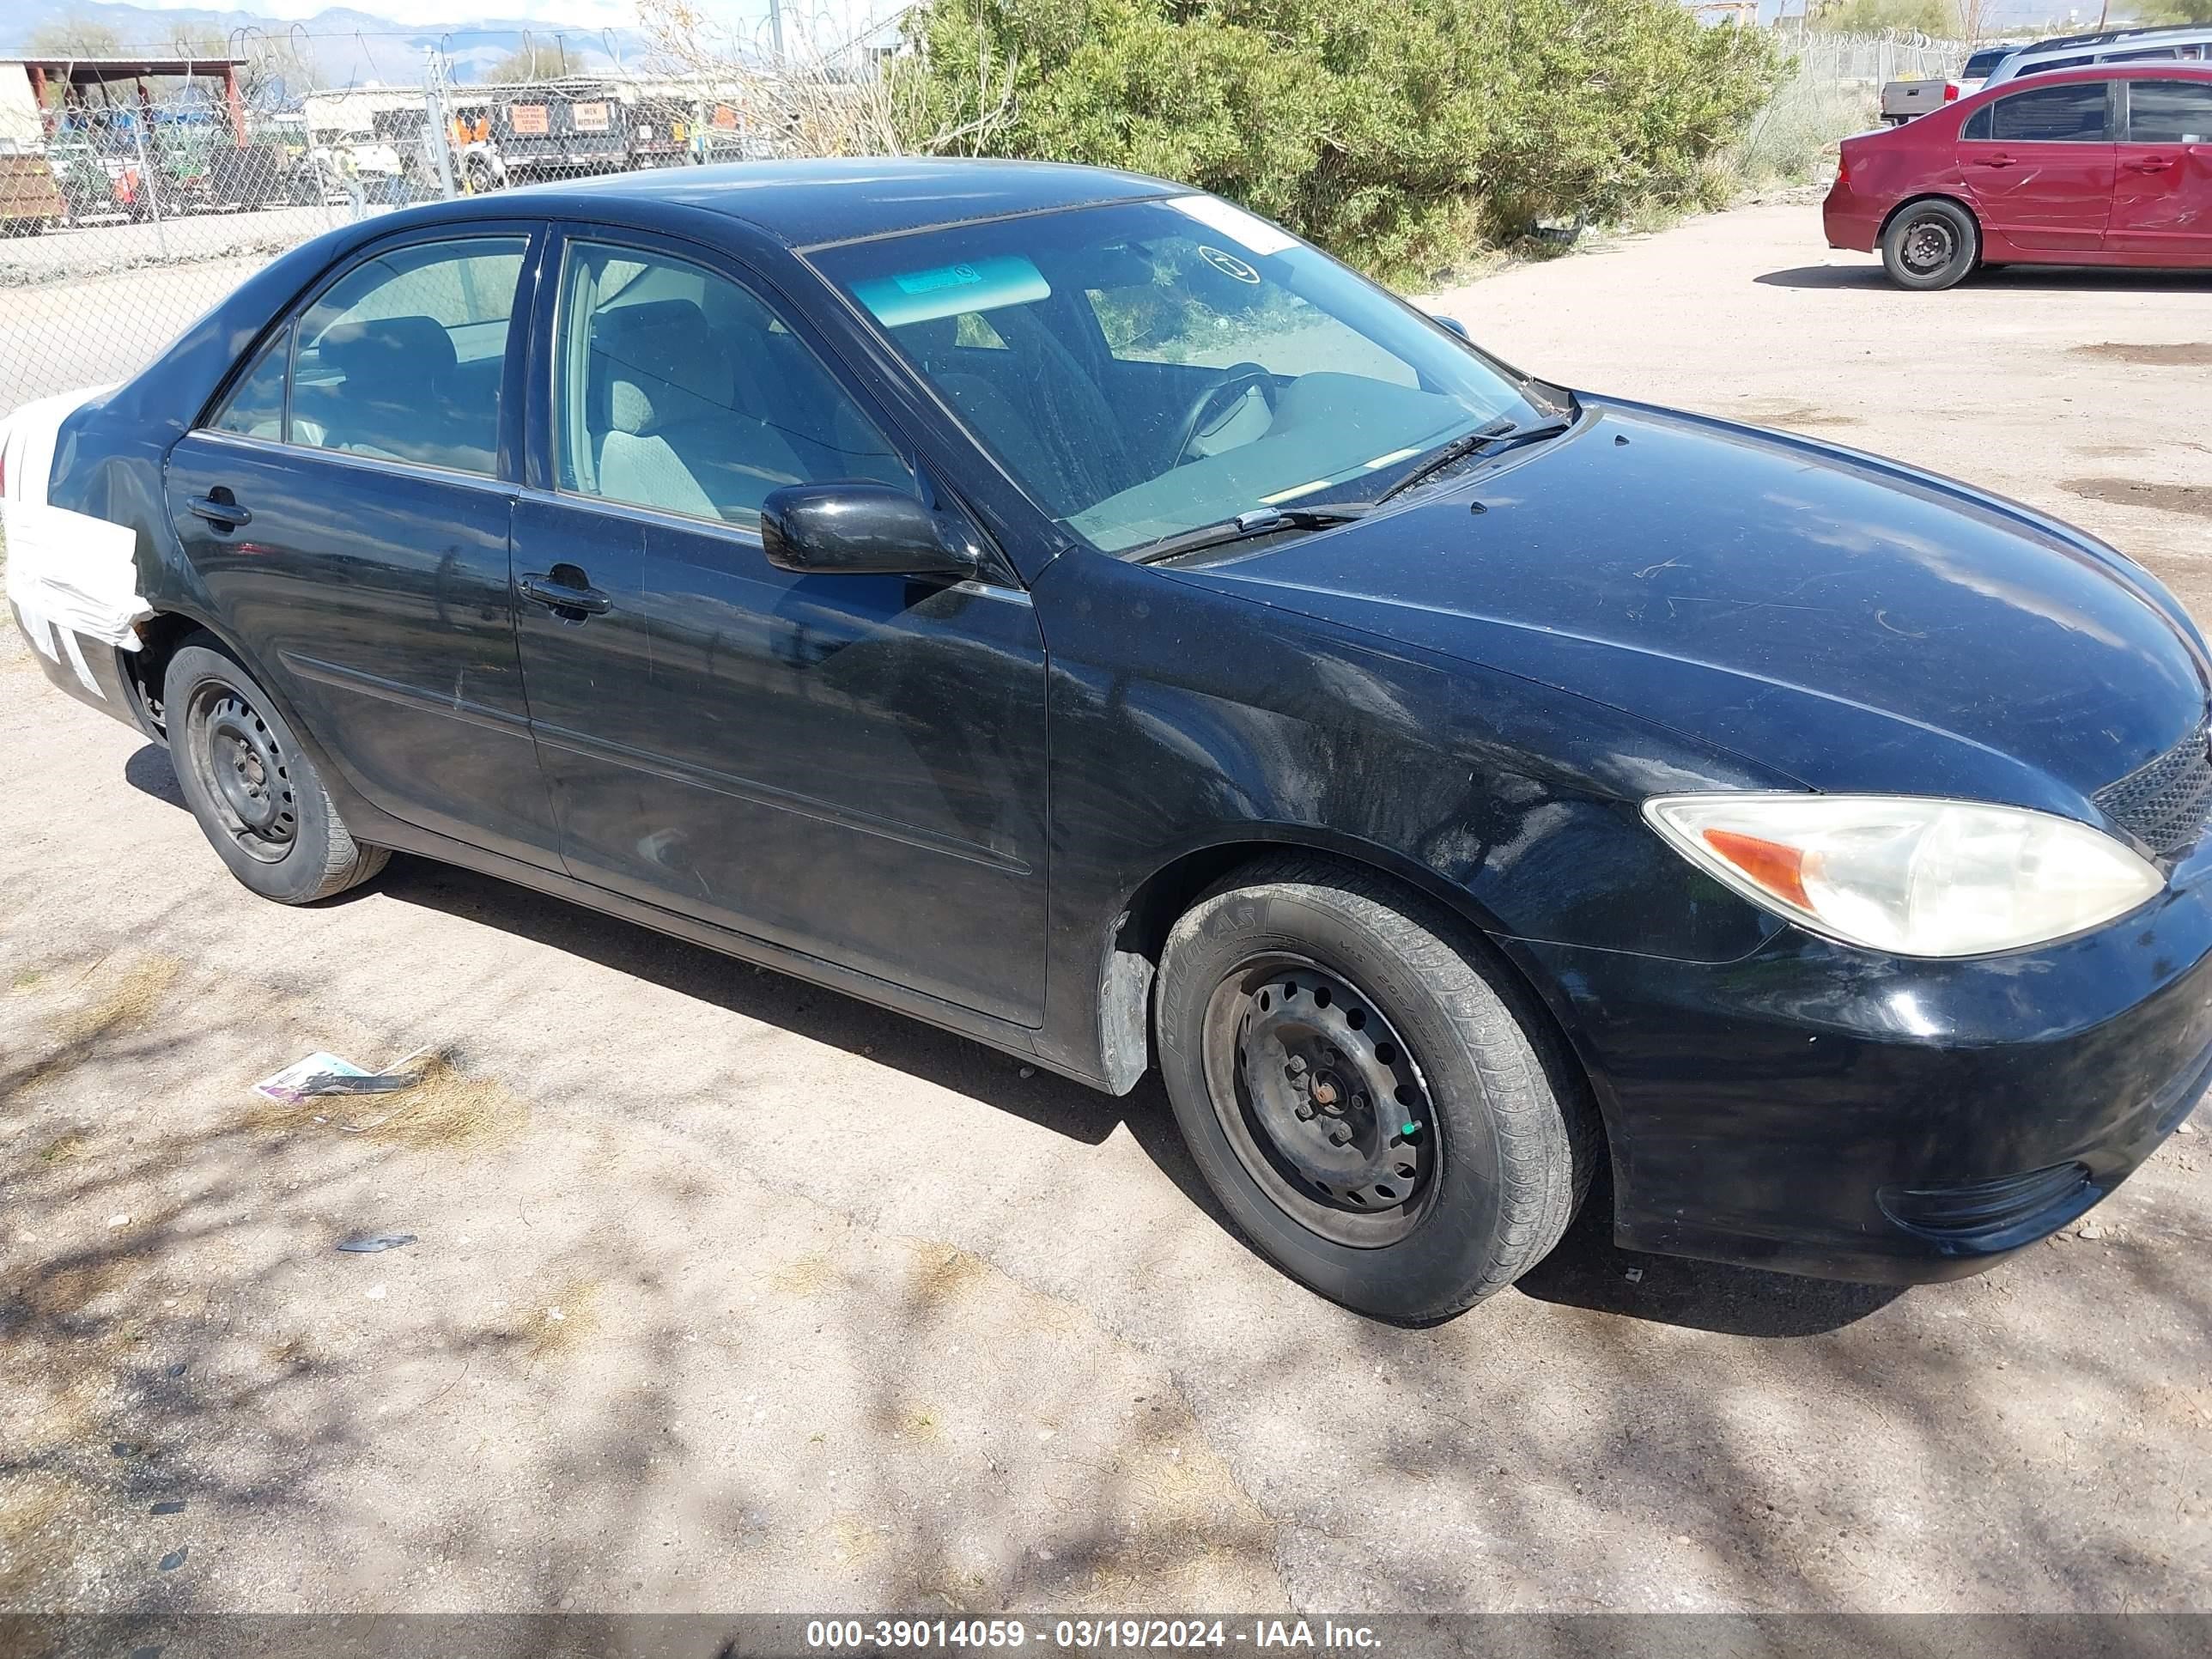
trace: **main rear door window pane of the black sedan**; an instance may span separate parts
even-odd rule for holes
[[[526,248],[416,243],[345,272],[299,323],[290,440],[489,478]]]

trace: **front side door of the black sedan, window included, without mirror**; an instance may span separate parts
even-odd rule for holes
[[[568,872],[1002,1020],[1044,1006],[1044,641],[984,582],[794,575],[759,504],[922,491],[801,319],[575,230],[535,347],[518,637]]]

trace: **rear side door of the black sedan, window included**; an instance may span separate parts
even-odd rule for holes
[[[555,869],[507,557],[540,243],[509,223],[361,254],[177,442],[166,493],[215,622],[354,790]]]

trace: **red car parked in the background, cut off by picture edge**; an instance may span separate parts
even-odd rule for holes
[[[2212,268],[2212,66],[2101,64],[2000,82],[1843,142],[1829,248],[1902,288],[1975,265]]]

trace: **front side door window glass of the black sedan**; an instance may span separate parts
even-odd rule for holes
[[[568,246],[557,387],[560,482],[582,495],[754,524],[785,484],[911,487],[761,299],[666,254]]]

